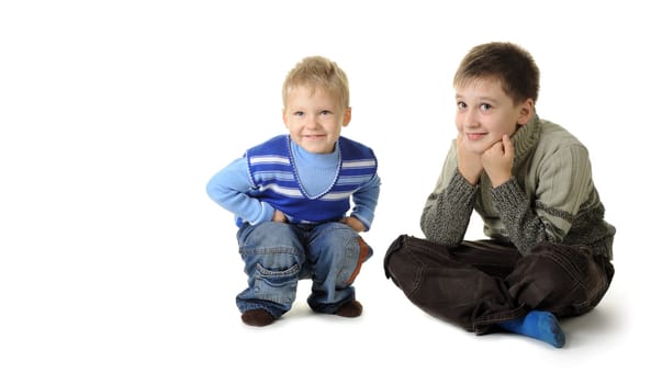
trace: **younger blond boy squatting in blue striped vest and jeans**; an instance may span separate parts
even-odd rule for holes
[[[304,58],[288,74],[282,99],[289,135],[248,149],[206,187],[239,227],[248,275],[248,287],[237,295],[242,320],[261,327],[281,317],[300,279],[312,279],[313,310],[360,316],[351,284],[372,256],[358,233],[369,230],[374,217],[377,158],[340,136],[351,109],[347,76],[336,63]]]

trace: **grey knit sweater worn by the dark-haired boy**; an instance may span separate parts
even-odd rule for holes
[[[459,173],[452,142],[423,210],[425,236],[449,247],[459,245],[475,210],[485,236],[513,242],[521,255],[547,240],[586,246],[611,259],[616,228],[604,219],[586,148],[561,126],[538,116],[518,128],[512,140],[513,177],[497,188],[484,171],[475,187]]]

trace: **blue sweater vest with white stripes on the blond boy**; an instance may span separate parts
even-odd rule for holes
[[[339,167],[333,184],[311,196],[302,188],[290,147],[290,136],[280,135],[246,151],[253,197],[284,213],[291,223],[338,221],[350,207],[350,196],[377,173],[372,149],[340,137]],[[242,223],[237,223],[242,224]]]

